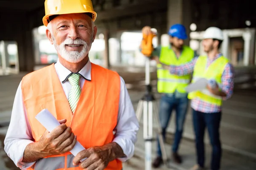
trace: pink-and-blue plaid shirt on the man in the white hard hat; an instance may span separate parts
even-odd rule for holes
[[[218,54],[214,59],[210,60],[207,59],[207,67],[215,61],[215,59],[218,59],[221,57],[222,54]],[[180,66],[174,66],[170,65],[170,73],[171,74],[177,74],[177,75],[186,75],[191,74],[194,70],[195,63],[197,61],[198,57],[194,58],[191,62],[188,62],[184,65]],[[230,63],[227,63],[227,65],[224,68],[224,71],[221,76],[221,90],[227,94],[226,97],[223,99],[228,99],[233,94],[233,88],[234,88],[234,71],[233,66]],[[202,100],[195,98],[192,99],[191,107],[195,111],[200,111],[203,113],[218,113],[221,111],[221,106],[213,105],[207,102],[203,102]]]

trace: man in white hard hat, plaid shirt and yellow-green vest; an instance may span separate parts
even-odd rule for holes
[[[204,170],[204,131],[207,127],[212,144],[211,170],[219,170],[221,164],[221,142],[219,127],[223,99],[233,94],[233,67],[219,48],[223,41],[220,28],[210,27],[204,33],[203,46],[207,56],[199,56],[184,65],[163,65],[171,74],[187,75],[193,72],[192,82],[200,78],[209,80],[207,88],[189,93],[195,130],[197,165],[192,170]],[[155,58],[158,63],[159,59]]]

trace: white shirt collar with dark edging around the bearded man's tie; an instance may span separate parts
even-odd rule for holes
[[[86,63],[86,65],[84,65],[84,67],[78,73],[75,73],[75,74],[80,74],[81,77],[83,77],[87,81],[91,81],[91,68],[92,68],[91,62],[90,62],[90,59],[88,59],[88,62]],[[70,77],[71,74],[74,74],[70,70],[65,68],[59,60],[57,60],[57,62],[55,63],[55,69],[62,83],[66,82],[68,77]]]

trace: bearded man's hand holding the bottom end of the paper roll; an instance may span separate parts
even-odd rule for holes
[[[80,163],[81,159],[85,159]],[[104,170],[111,161],[111,150],[108,147],[90,147],[79,152],[73,159],[73,165],[78,165],[86,170]]]

